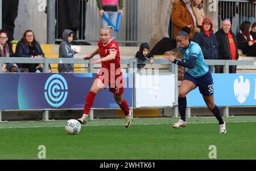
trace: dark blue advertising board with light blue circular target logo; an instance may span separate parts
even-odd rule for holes
[[[8,73],[0,74],[0,110],[7,109],[79,109],[97,74]],[[123,74],[125,85],[132,74]],[[133,105],[133,87],[123,93]],[[119,108],[109,88],[99,92],[92,108]]]

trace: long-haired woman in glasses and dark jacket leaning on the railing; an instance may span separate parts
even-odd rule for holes
[[[24,32],[22,39],[18,42],[15,50],[15,57],[21,58],[44,58],[43,50],[38,41],[35,39],[35,34],[31,30]],[[28,69],[28,72],[36,72],[37,63],[22,63],[18,65],[23,69]],[[23,70],[22,70],[23,72]]]

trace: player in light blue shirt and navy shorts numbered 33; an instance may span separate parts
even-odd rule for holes
[[[172,127],[178,129],[180,126],[185,127],[187,125],[185,118],[185,110],[187,108],[186,96],[198,86],[207,107],[218,119],[220,124],[220,134],[225,134],[225,122],[222,119],[220,109],[214,104],[212,74],[210,74],[209,68],[204,61],[203,52],[200,46],[196,42],[189,41],[188,35],[190,32],[191,29],[189,27],[184,27],[176,36],[177,45],[179,46],[178,49],[182,53],[184,61],[175,59],[170,53],[165,57],[171,62],[187,67],[188,69],[185,72],[179,91],[178,105],[181,119],[179,122],[174,123]]]

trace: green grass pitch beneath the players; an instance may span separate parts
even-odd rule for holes
[[[188,118],[185,128],[173,129],[178,118],[93,119],[78,135],[65,132],[66,121],[0,123],[0,159],[256,159],[256,117],[227,117],[226,134],[215,118]]]

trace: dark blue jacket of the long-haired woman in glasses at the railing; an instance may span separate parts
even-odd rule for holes
[[[35,41],[35,47],[38,49],[38,55],[43,55],[43,50],[41,49],[41,46],[38,41]],[[31,55],[28,55],[28,46],[25,44],[23,40],[20,40],[16,46],[15,50],[15,57],[20,57],[20,58],[31,58]]]

